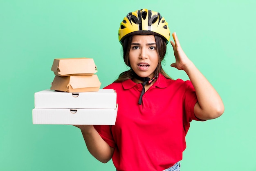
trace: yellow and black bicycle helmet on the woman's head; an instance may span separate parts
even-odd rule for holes
[[[140,9],[128,13],[121,22],[118,31],[118,38],[121,44],[123,44],[126,36],[135,34],[158,35],[166,40],[166,44],[170,40],[170,30],[164,17],[160,13],[149,9]]]

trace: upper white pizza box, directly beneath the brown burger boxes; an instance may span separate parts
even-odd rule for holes
[[[115,109],[117,93],[113,89],[67,93],[43,90],[35,93],[35,108]]]

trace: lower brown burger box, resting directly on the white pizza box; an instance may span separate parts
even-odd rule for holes
[[[64,92],[99,91],[101,82],[96,74],[91,76],[55,76],[51,90]]]

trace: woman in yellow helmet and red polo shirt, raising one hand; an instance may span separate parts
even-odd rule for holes
[[[168,23],[157,12],[137,10],[121,22],[119,41],[130,70],[106,89],[115,89],[119,109],[115,126],[76,125],[90,153],[101,162],[111,158],[117,171],[179,171],[192,120],[222,115],[216,90],[187,58],[172,34],[176,62],[190,81],[172,80],[161,62],[170,39]]]

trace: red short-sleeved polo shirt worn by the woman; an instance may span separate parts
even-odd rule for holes
[[[115,126],[94,126],[114,147],[112,161],[118,171],[162,171],[182,160],[185,135],[197,102],[190,81],[166,79],[162,74],[138,104],[142,85],[126,80],[105,89],[117,92]]]

